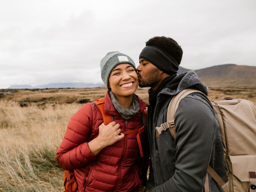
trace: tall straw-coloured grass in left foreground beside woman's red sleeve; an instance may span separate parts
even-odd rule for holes
[[[55,152],[80,104],[20,107],[0,100],[0,191],[61,191]]]

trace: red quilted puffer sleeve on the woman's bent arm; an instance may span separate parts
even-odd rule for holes
[[[71,117],[64,139],[56,152],[56,161],[62,169],[78,169],[95,160],[87,143],[92,125],[93,113],[88,103]]]

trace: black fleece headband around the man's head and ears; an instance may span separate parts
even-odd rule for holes
[[[179,69],[179,63],[173,56],[155,46],[144,47],[139,58],[149,61],[168,75],[176,74]]]

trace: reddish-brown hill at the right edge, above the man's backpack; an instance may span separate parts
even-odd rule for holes
[[[256,78],[256,67],[225,64],[195,70],[199,78]]]

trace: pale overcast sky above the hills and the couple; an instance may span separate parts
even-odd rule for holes
[[[176,40],[181,66],[256,66],[256,0],[0,0],[0,88],[101,83],[100,60],[138,65],[154,36]]]

